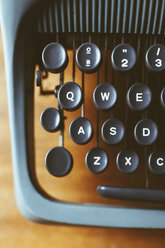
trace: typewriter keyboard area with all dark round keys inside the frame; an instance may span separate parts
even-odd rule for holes
[[[79,190],[80,201],[92,195],[108,203],[132,199],[104,194],[110,187],[165,189],[164,38],[56,34],[35,38],[36,46],[39,40],[36,122],[45,149],[38,156],[53,185],[47,191],[54,187],[55,195],[64,180],[70,193],[62,200]]]

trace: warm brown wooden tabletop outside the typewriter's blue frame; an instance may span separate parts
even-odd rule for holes
[[[159,248],[164,230],[93,228],[30,222],[17,210],[12,178],[7,92],[0,36],[0,247]],[[116,216],[117,217],[117,216]]]

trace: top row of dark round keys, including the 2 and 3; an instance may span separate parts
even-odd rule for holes
[[[115,70],[126,72],[131,70],[136,63],[136,52],[132,46],[126,43],[117,45],[111,54],[111,63]],[[45,69],[51,73],[60,73],[68,65],[68,55],[65,48],[57,43],[48,44],[42,52],[42,61]],[[165,46],[152,45],[146,52],[146,66],[151,71],[165,70]],[[76,53],[77,66],[82,72],[96,72],[102,62],[99,47],[92,42],[83,43]]]

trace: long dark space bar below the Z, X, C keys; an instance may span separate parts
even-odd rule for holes
[[[100,185],[97,187],[97,191],[101,196],[110,199],[136,202],[165,203],[165,190],[143,188],[136,189]]]

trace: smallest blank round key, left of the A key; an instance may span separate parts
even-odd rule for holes
[[[58,131],[61,122],[59,111],[56,108],[45,109],[41,114],[40,122],[46,131]]]

